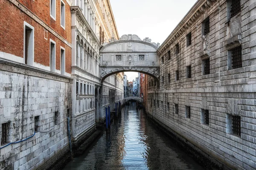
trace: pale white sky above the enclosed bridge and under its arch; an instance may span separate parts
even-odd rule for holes
[[[110,0],[116,27],[123,34],[136,34],[160,45],[186,15],[196,0]],[[131,81],[136,72],[125,72]]]

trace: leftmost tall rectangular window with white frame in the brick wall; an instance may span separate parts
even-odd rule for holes
[[[24,63],[33,65],[34,63],[34,27],[24,21],[23,58]]]

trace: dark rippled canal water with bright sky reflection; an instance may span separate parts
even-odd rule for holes
[[[136,103],[122,109],[110,132],[64,170],[204,170],[182,148],[154,127]]]

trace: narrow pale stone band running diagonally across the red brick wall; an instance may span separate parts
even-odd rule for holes
[[[72,48],[72,44],[68,42],[66,39],[64,39],[60,34],[58,34],[56,31],[54,31],[51,27],[49,27],[46,23],[44,23],[43,20],[41,20],[38,16],[36,16],[34,13],[32,13],[26,6],[23,6],[19,1],[17,0],[9,0],[12,4],[14,4],[17,8],[19,8],[21,11],[23,11],[25,14],[27,14],[29,17],[31,17],[33,20],[35,20],[37,23],[39,23],[41,26],[43,26],[47,31],[52,33],[55,37],[57,37],[59,40],[64,42],[66,45]]]

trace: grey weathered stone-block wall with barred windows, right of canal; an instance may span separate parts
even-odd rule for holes
[[[256,3],[241,0],[241,12],[230,21],[229,3],[198,1],[160,46],[161,83],[157,88],[154,79],[148,79],[147,112],[228,167],[252,170],[256,168]],[[207,17],[210,32],[203,37]],[[187,45],[190,32],[192,44]],[[240,44],[242,67],[231,69],[229,50]],[[210,61],[207,75],[204,59]],[[209,125],[204,123],[204,110],[209,110]],[[232,116],[241,117],[241,136],[232,134]]]

